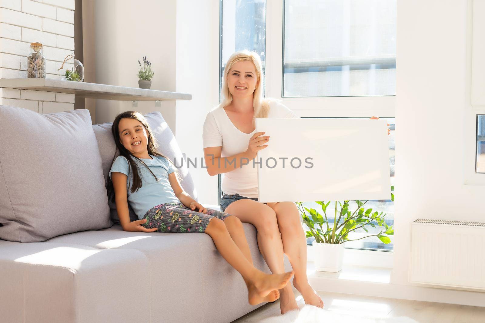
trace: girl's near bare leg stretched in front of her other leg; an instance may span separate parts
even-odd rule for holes
[[[260,297],[267,296],[275,289],[283,288],[293,276],[293,271],[268,275],[256,269],[236,246],[221,219],[212,217],[205,233],[210,235],[223,258],[255,286]]]

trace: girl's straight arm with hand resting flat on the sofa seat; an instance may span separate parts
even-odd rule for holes
[[[128,176],[119,172],[113,171],[111,173],[111,180],[113,181],[114,188],[114,200],[116,202],[116,211],[120,219],[121,226],[124,231],[142,231],[142,232],[154,232],[157,228],[146,229],[141,225],[146,222],[146,219],[136,220],[130,222],[128,211],[128,191],[126,188],[126,182]]]

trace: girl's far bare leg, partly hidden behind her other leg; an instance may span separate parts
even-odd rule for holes
[[[249,245],[247,244],[246,235],[244,229],[242,228],[241,220],[234,215],[228,216],[224,220],[227,231],[231,235],[232,240],[239,247],[241,252],[246,257],[247,261],[253,264],[253,258],[251,257],[251,251]],[[242,277],[246,283],[248,290],[248,301],[251,305],[256,305],[262,302],[274,302],[279,298],[279,290],[274,290],[270,292],[267,296],[261,297],[256,291],[256,287],[245,277]]]

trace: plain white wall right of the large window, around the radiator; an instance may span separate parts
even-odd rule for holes
[[[464,154],[475,153],[463,151],[465,131],[475,126],[464,123],[470,23],[471,0],[398,1],[393,283],[410,285],[413,220],[485,221],[485,186],[464,185],[462,167]],[[485,293],[455,292],[454,301],[458,295],[485,304]]]

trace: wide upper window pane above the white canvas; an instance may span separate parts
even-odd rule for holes
[[[396,0],[285,0],[283,97],[396,93]]]

